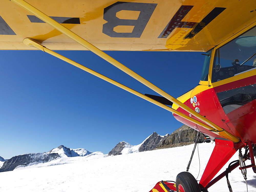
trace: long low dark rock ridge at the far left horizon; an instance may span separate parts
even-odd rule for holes
[[[44,163],[59,158],[58,153],[29,153],[18,155],[8,159],[0,168],[0,172],[13,171],[18,166],[27,166],[37,163]]]

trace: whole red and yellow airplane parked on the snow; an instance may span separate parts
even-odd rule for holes
[[[182,172],[176,182],[159,182],[151,191],[207,191],[238,166],[255,169],[255,1],[2,0],[0,4],[1,50],[39,49],[52,54],[169,110],[178,121],[215,139],[199,183]],[[90,50],[164,98],[143,95],[52,50]],[[175,99],[101,50],[198,51],[205,52],[205,63],[199,85]],[[213,179],[238,150],[239,160]],[[247,159],[251,163],[245,166]]]

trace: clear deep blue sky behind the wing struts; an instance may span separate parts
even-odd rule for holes
[[[140,93],[157,95],[89,51],[58,51]],[[174,97],[195,87],[198,52],[106,51]],[[182,126],[172,113],[42,51],[0,51],[0,156],[59,145],[107,154],[120,141],[140,144]]]

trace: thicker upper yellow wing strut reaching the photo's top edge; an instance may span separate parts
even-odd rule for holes
[[[70,31],[69,29],[67,29],[66,27],[62,26],[61,24],[59,24],[57,21],[55,21],[54,19],[48,17],[47,15],[45,15],[44,13],[42,13],[41,11],[39,11],[38,9],[36,9],[35,7],[33,7],[32,5],[28,4],[27,2],[23,1],[23,0],[11,0],[12,2],[16,3],[17,5],[21,6],[22,8],[26,9],[27,11],[29,11],[30,13],[34,14],[36,17],[38,17],[39,19],[45,21],[46,23],[48,23],[49,25],[51,25],[52,27],[54,27],[55,29],[57,29],[58,31],[62,32],[63,34],[67,35],[68,37],[70,37],[71,39],[73,39],[74,41],[78,42],[79,44],[81,44],[82,46],[86,47],[88,50],[92,51],[93,53],[97,54],[99,57],[101,57],[102,59],[108,61],[109,63],[111,63],[112,65],[116,66],[117,68],[119,68],[120,70],[122,70],[123,72],[127,73],[128,75],[130,75],[131,77],[135,78],[137,81],[143,83],[144,85],[146,85],[147,87],[151,88],[153,91],[155,91],[156,93],[162,95],[163,97],[165,97],[166,99],[172,101],[173,103],[175,103],[177,106],[181,107],[182,109],[184,109],[185,111],[189,112],[190,114],[192,114],[194,117],[197,117],[198,119],[200,119],[201,121],[205,122],[207,125],[211,126],[211,131],[220,131],[219,134],[233,142],[239,142],[239,139],[237,137],[235,137],[234,135],[230,134],[229,132],[227,132],[226,130],[220,128],[219,126],[217,126],[215,123],[209,121],[208,119],[206,119],[204,116],[199,115],[197,112],[195,112],[194,110],[190,109],[188,106],[184,105],[183,103],[181,103],[179,100],[175,99],[174,97],[170,96],[169,94],[167,94],[166,92],[164,92],[162,89],[158,88],[157,86],[153,85],[152,83],[150,83],[149,81],[147,81],[146,79],[144,79],[143,77],[141,77],[140,75],[136,74],[135,72],[133,72],[132,70],[130,70],[129,68],[127,68],[126,66],[124,66],[123,64],[121,64],[120,62],[116,61],[115,59],[113,59],[112,57],[110,57],[108,54],[104,53],[103,51],[101,51],[100,49],[98,49],[97,47],[93,46],[91,43],[87,42],[86,40],[84,40],[83,38],[79,37],[78,35],[76,35],[74,32]],[[57,54],[57,53],[56,53]],[[66,58],[67,59],[67,58]],[[147,100],[147,99],[146,99]],[[176,113],[175,113],[176,114]],[[178,114],[177,114],[178,115]],[[186,116],[186,115],[185,115]],[[183,117],[183,116],[182,116]],[[190,118],[191,121],[192,118]],[[193,121],[192,121],[193,122]],[[198,121],[199,122],[199,121]],[[198,123],[196,123],[198,124]],[[199,124],[198,124],[199,125]],[[203,126],[204,127],[204,126]],[[214,129],[214,130],[212,130]]]

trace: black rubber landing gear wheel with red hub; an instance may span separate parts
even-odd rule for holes
[[[189,172],[181,172],[176,177],[177,192],[200,192],[195,177]]]

